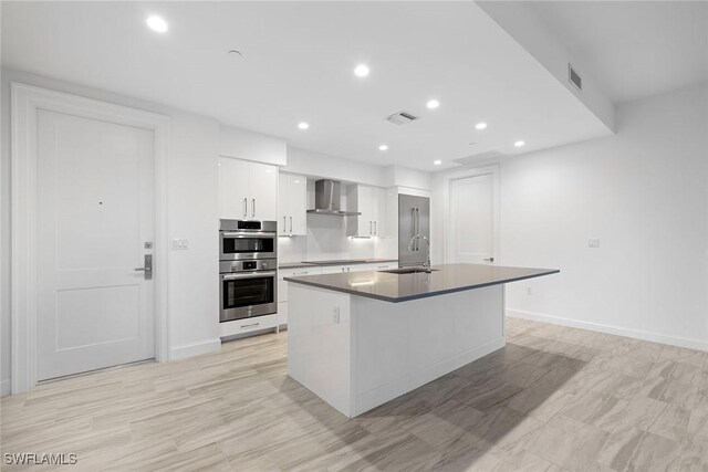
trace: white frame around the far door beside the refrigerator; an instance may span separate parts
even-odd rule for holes
[[[445,176],[445,180],[444,180],[444,198],[442,198],[442,206],[444,206],[444,211],[445,211],[445,224],[442,227],[442,231],[444,231],[444,239],[445,239],[445,247],[442,248],[442,260],[445,261],[445,263],[450,263],[448,261],[448,258],[451,255],[450,249],[452,248],[451,241],[450,241],[450,235],[451,235],[451,213],[450,213],[450,190],[451,190],[451,182],[454,180],[461,180],[461,179],[466,179],[469,177],[479,177],[479,176],[486,176],[486,175],[490,175],[492,177],[492,183],[494,186],[493,189],[493,203],[492,203],[492,219],[493,219],[493,231],[494,231],[494,235],[492,238],[492,254],[491,256],[494,258],[494,261],[497,261],[499,258],[501,258],[501,235],[500,235],[500,230],[501,230],[501,224],[500,224],[500,214],[501,214],[501,189],[499,186],[499,165],[493,165],[493,166],[485,166],[485,167],[477,167],[477,168],[472,168],[472,169],[465,169],[465,170],[459,170],[459,171],[455,171],[455,172],[450,172],[448,175]]]

